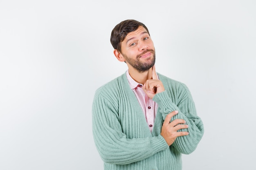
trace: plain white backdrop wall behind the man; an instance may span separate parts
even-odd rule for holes
[[[103,170],[92,99],[125,73],[116,24],[146,24],[156,70],[186,84],[205,133],[183,170],[254,170],[254,0],[0,0],[0,170]]]

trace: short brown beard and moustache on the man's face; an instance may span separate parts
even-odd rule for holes
[[[146,61],[142,62],[139,60],[139,57],[141,55],[144,55],[145,53],[152,52],[153,56],[146,59]],[[126,59],[126,62],[129,63],[133,68],[135,68],[139,73],[143,73],[145,71],[148,71],[149,68],[151,68],[155,64],[155,51],[154,50],[146,50],[143,53],[136,56],[135,59],[129,58],[126,55],[123,55]]]

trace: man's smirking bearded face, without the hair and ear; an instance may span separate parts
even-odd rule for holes
[[[129,69],[147,71],[155,64],[155,47],[146,29],[139,26],[121,42],[121,54]]]

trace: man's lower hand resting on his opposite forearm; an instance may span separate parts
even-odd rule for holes
[[[189,135],[189,132],[177,132],[177,130],[180,129],[186,129],[189,127],[189,125],[186,125],[186,121],[183,119],[175,119],[172,122],[171,118],[174,115],[177,115],[178,111],[175,110],[171,113],[169,113],[163,123],[162,130],[161,130],[161,135],[164,137],[166,143],[171,146],[175,139],[179,136],[186,136]]]

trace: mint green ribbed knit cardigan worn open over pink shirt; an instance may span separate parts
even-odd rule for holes
[[[158,73],[165,91],[153,100],[157,115],[150,132],[126,74],[97,89],[92,104],[92,131],[105,170],[181,170],[181,154],[190,154],[202,139],[204,127],[186,85]],[[184,119],[189,135],[168,146],[161,133],[166,115]],[[171,120],[171,121],[172,121]]]

